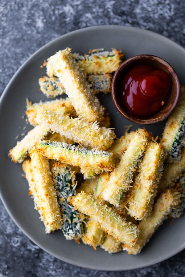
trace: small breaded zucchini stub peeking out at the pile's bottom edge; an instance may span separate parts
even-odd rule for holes
[[[122,250],[121,242],[113,238],[113,236],[107,235],[101,248],[107,251],[109,254],[117,253]]]

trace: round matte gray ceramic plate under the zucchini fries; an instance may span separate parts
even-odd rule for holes
[[[152,54],[167,60],[176,70],[180,82],[185,72],[185,50],[175,42],[150,31],[124,26],[95,26],[77,30],[49,42],[31,56],[11,79],[0,101],[0,193],[1,199],[14,222],[39,247],[77,266],[97,270],[129,270],[149,266],[171,257],[185,248],[184,216],[165,222],[156,231],[141,254],[133,256],[126,252],[110,255],[101,248],[94,251],[84,244],[67,241],[61,231],[46,235],[39,214],[33,209],[33,200],[28,196],[28,184],[22,177],[22,165],[14,164],[7,153],[15,143],[17,134],[23,132],[26,97],[33,102],[46,100],[39,92],[38,78],[45,74],[40,65],[43,60],[64,49],[84,53],[90,48],[122,49],[125,58],[138,54]],[[124,126],[130,122],[122,118],[113,106],[111,96],[101,97],[113,118],[118,136],[124,134]],[[19,129],[21,126],[21,129]],[[147,126],[154,134],[161,134],[164,122]],[[134,125],[133,130],[137,128]],[[143,126],[142,126],[143,127]],[[27,126],[26,131],[30,129]],[[19,136],[20,139],[21,136]]]

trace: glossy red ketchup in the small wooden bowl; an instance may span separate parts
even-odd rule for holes
[[[123,105],[130,114],[140,118],[160,110],[170,91],[170,76],[163,70],[144,64],[131,68],[121,83]]]

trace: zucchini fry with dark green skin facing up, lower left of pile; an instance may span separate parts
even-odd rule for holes
[[[79,240],[83,234],[84,215],[74,210],[74,207],[68,203],[68,198],[76,195],[75,174],[70,167],[60,162],[56,162],[51,171],[63,215],[63,234],[66,239]]]

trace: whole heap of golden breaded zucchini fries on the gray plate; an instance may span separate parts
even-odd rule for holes
[[[94,249],[138,254],[163,221],[185,207],[185,89],[162,139],[146,129],[116,138],[96,94],[110,91],[122,56],[116,49],[82,56],[66,48],[48,58],[40,90],[68,97],[27,99],[33,129],[8,155],[23,162],[46,233],[60,229]]]

